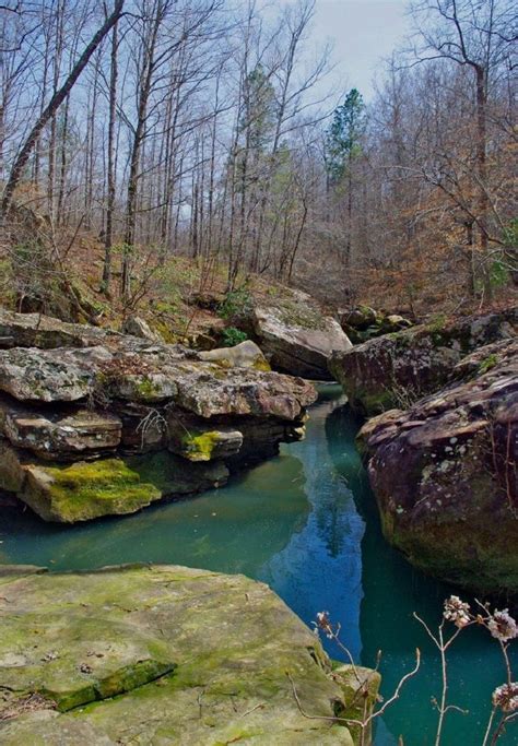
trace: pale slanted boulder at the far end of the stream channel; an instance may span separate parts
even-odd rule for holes
[[[325,316],[306,294],[293,292],[276,305],[256,307],[254,333],[272,366],[294,376],[332,380],[328,360],[352,347],[333,318]]]

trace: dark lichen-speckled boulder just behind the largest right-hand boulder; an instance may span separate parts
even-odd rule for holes
[[[456,322],[437,319],[334,353],[329,369],[362,414],[405,408],[449,382],[463,357],[482,345],[513,339],[517,330],[516,308]]]

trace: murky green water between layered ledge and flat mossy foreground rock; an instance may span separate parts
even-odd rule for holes
[[[266,499],[270,483],[283,499]],[[308,510],[303,464],[283,454],[224,489],[125,518],[59,526],[15,512],[0,528],[0,559],[55,570],[170,563],[255,576],[304,525]]]

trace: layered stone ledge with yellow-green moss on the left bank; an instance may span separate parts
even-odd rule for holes
[[[132,512],[217,486],[227,463],[303,437],[316,399],[307,381],[239,367],[240,353],[227,367],[38,315],[0,312],[0,490],[46,520]]]

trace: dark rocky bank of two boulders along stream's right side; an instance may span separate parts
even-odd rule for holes
[[[420,569],[518,594],[518,311],[414,327],[338,353],[385,537]],[[396,407],[396,408],[395,408]],[[381,413],[381,414],[378,414]]]

